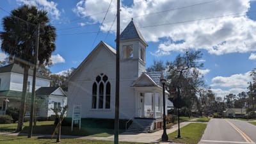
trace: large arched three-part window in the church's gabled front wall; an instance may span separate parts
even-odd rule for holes
[[[92,86],[92,109],[110,109],[111,84],[108,76],[100,74]]]

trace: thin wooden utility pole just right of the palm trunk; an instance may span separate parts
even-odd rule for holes
[[[35,88],[36,88],[36,68],[38,61],[38,49],[39,49],[39,35],[40,35],[40,24],[37,25],[36,32],[36,49],[35,49],[35,62],[34,62],[34,71],[33,71],[33,83],[32,83],[32,93],[31,93],[31,108],[30,108],[30,120],[29,120],[29,133],[28,138],[31,138],[33,134],[33,120],[35,113]]]

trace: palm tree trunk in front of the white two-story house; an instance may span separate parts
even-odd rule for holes
[[[24,76],[23,76],[23,87],[22,87],[22,97],[20,102],[20,113],[19,120],[16,132],[20,132],[22,130],[22,125],[24,122],[24,115],[26,111],[26,93],[27,93],[27,85],[28,85],[28,70],[29,67],[24,67]]]

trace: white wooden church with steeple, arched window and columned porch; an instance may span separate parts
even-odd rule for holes
[[[161,128],[162,72],[146,72],[147,46],[131,21],[120,35],[120,118],[132,120],[129,131],[139,131],[142,123],[148,129],[141,132]],[[82,118],[115,118],[115,61],[116,50],[100,42],[77,67],[68,80],[68,117],[80,105]]]

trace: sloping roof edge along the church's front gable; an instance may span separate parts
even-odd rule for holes
[[[88,54],[88,56],[82,61],[82,63],[80,63],[80,65],[76,68],[76,70],[73,72],[73,74],[68,78],[68,81],[70,79],[72,79],[72,77],[75,76],[76,73],[82,67],[84,67],[84,65],[90,60],[90,58],[93,57],[95,52],[97,52],[97,50],[100,49],[100,45],[103,45],[103,47],[106,48],[108,50],[108,52],[110,52],[111,56],[116,56],[116,50],[113,47],[111,47],[110,45],[106,44],[105,42],[100,41],[99,44],[93,49],[93,51],[90,52],[90,54]]]

